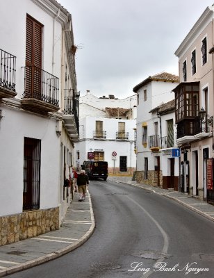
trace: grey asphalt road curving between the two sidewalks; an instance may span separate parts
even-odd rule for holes
[[[91,181],[96,228],[77,250],[13,278],[214,276],[214,222],[161,195]]]

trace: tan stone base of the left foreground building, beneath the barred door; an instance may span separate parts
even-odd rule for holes
[[[59,208],[0,217],[0,246],[59,229]]]

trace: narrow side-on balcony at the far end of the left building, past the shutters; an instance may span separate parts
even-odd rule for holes
[[[79,141],[79,92],[65,89],[63,120],[73,142]]]

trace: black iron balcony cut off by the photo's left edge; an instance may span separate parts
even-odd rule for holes
[[[16,57],[0,49],[0,99],[15,97]]]

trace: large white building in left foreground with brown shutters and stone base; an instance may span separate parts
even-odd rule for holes
[[[8,0],[0,17],[0,245],[59,229],[79,138],[71,15]],[[13,20],[12,20],[13,19]]]

